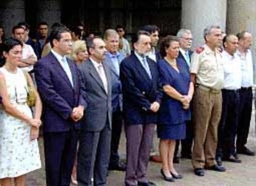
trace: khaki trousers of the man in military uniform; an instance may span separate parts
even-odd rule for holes
[[[192,121],[194,124],[194,148],[192,166],[210,167],[216,164],[215,153],[218,142],[218,124],[221,118],[221,91],[195,87]]]

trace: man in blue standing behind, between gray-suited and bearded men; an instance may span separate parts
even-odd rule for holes
[[[122,52],[118,52],[119,35],[116,30],[108,29],[104,34],[106,43],[106,59],[104,63],[111,71],[112,84],[112,134],[111,153],[109,160],[109,170],[125,171],[126,164],[119,162],[119,140],[122,132],[122,87],[119,78],[120,63],[126,57]]]

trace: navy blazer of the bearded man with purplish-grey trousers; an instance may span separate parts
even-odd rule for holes
[[[150,110],[150,105],[153,102],[161,103],[163,92],[156,63],[149,58],[147,62],[152,79],[134,52],[122,60],[120,78],[126,124],[150,124],[157,121],[157,113]]]

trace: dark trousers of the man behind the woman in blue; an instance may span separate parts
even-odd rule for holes
[[[176,140],[174,157],[177,157],[177,153],[179,152],[179,145],[181,144],[181,157],[189,157],[192,154],[192,144],[193,144],[193,136],[194,129],[192,125],[192,121],[187,121],[186,123],[186,139]]]

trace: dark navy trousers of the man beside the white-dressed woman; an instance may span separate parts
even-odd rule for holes
[[[79,130],[44,132],[46,184],[69,186]]]

